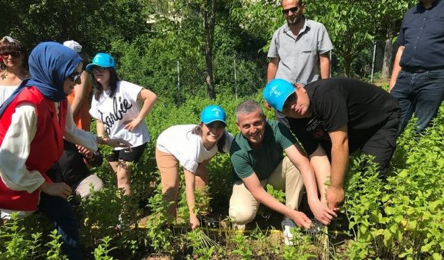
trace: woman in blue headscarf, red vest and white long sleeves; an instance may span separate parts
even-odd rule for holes
[[[0,107],[0,214],[38,209],[62,236],[62,252],[80,259],[78,229],[66,198],[71,188],[53,183],[46,171],[63,153],[63,139],[97,150],[98,144],[129,146],[79,130],[72,119],[67,94],[80,80],[82,60],[56,42],[38,44],[29,57],[32,77]]]

